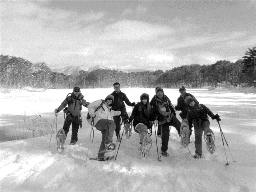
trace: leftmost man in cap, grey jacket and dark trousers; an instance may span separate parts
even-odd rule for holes
[[[74,87],[72,94],[70,96],[67,96],[66,99],[62,102],[62,104],[54,110],[55,113],[58,113],[68,105],[66,109],[67,116],[64,121],[63,129],[65,131],[67,138],[70,125],[72,124],[70,145],[74,145],[78,141],[77,133],[79,125],[81,123],[80,121],[82,120],[82,105],[88,107],[89,104],[89,102],[86,102],[86,100],[84,100],[84,96],[81,94],[80,88]]]

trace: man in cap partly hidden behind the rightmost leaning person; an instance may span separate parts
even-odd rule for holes
[[[182,118],[182,120],[184,120],[187,118],[187,115],[188,115],[188,106],[186,105],[185,98],[190,96],[194,99],[196,104],[198,104],[199,102],[196,100],[196,98],[192,94],[186,93],[186,89],[184,86],[179,87],[179,92],[180,92],[180,97],[178,98],[177,105],[174,107],[174,109],[177,111],[181,111],[180,117]],[[190,138],[192,134],[192,129],[191,128],[189,129],[190,129],[190,135],[189,135],[189,138]]]

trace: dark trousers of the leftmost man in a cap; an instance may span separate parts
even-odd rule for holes
[[[72,124],[72,134],[71,134],[71,140],[70,143],[75,143],[78,141],[77,138],[77,133],[79,130],[79,115],[78,116],[72,116],[71,114],[69,114],[68,116],[66,116],[66,119],[64,121],[64,125],[63,125],[63,129],[65,131],[66,134],[66,138],[67,138],[67,134],[69,132],[69,128],[70,125]]]

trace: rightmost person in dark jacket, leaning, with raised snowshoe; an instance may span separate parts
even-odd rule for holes
[[[207,150],[213,154],[215,150],[214,145],[214,134],[210,129],[210,121],[208,115],[212,119],[216,119],[220,121],[220,116],[218,114],[214,115],[209,108],[204,106],[203,104],[196,103],[194,98],[188,96],[185,98],[185,102],[188,106],[188,126],[192,128],[194,125],[195,131],[195,158],[202,157],[202,134],[204,131],[206,139]],[[208,140],[208,136],[210,136],[210,141]]]

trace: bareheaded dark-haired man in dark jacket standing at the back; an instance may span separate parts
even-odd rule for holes
[[[125,124],[129,118],[129,116],[126,112],[126,107],[125,107],[124,102],[128,106],[135,106],[135,102],[131,103],[129,101],[129,99],[127,98],[126,94],[124,94],[123,92],[120,91],[120,84],[118,82],[114,83],[113,86],[114,86],[114,92],[112,92],[111,95],[114,96],[114,102],[112,104],[112,109],[115,111],[121,112],[122,120]],[[121,128],[121,117],[113,116],[113,120],[116,124],[115,132],[116,132],[117,140],[119,141],[120,140],[120,128]]]

